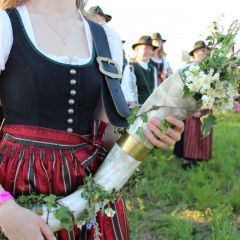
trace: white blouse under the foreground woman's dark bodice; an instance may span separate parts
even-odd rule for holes
[[[79,66],[84,65],[91,61],[92,51],[93,51],[93,39],[92,39],[89,24],[86,21],[86,19],[83,17],[80,10],[79,10],[79,14],[81,15],[83,22],[84,22],[90,56],[88,58],[79,58],[79,57],[75,56],[72,59],[71,63],[70,63],[70,59],[68,56],[52,56],[52,55],[46,54],[43,51],[41,51],[41,49],[38,48],[37,43],[36,43],[36,39],[34,36],[32,24],[31,24],[31,19],[30,19],[27,7],[25,5],[19,6],[19,7],[17,7],[17,10],[20,14],[20,17],[22,19],[24,28],[28,34],[29,39],[31,40],[33,45],[38,49],[38,51],[40,51],[43,55],[45,55],[46,57],[48,57],[56,62],[72,64],[72,65],[79,65]],[[107,25],[103,26],[103,28],[107,35],[112,59],[114,61],[116,61],[119,65],[120,69],[122,69],[123,51],[122,51],[121,39],[113,28],[111,28]],[[5,11],[0,9],[0,73],[1,73],[1,71],[3,71],[5,69],[5,64],[7,62],[8,56],[10,54],[12,44],[13,44],[13,33],[12,33],[11,21],[9,19],[8,14]]]

